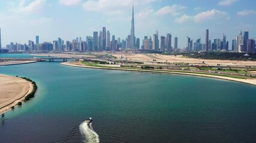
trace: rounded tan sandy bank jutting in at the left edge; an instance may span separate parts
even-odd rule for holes
[[[18,102],[24,101],[33,90],[33,85],[19,77],[0,74],[0,114],[7,112]]]

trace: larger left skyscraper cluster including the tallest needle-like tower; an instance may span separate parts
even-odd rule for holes
[[[132,5],[132,18],[131,18],[131,34],[127,36],[125,40],[120,38],[116,39],[115,35],[112,35],[110,40],[110,32],[106,30],[106,27],[100,32],[94,32],[93,36],[86,36],[86,41],[82,41],[82,38],[76,38],[72,41],[64,41],[58,38],[58,41],[39,43],[39,36],[35,37],[34,41],[29,41],[28,45],[13,43],[7,45],[7,49],[10,51],[119,51],[119,49],[144,49],[154,51],[173,51],[171,46],[171,34],[167,34],[166,37],[160,37],[160,43],[158,38],[158,31],[153,35],[153,39],[144,36],[142,45],[140,47],[140,39],[135,38],[134,30],[134,7]],[[160,46],[159,46],[160,45]],[[177,38],[175,38],[174,48],[177,49]]]

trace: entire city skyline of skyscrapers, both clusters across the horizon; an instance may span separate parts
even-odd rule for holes
[[[222,38],[215,38],[213,42],[209,39],[209,30],[206,30],[205,43],[201,43],[201,38],[197,39],[194,43],[191,38],[187,37],[186,51],[229,51],[227,37],[223,35]],[[7,45],[9,51],[119,51],[122,49],[132,49],[141,51],[179,51],[178,38],[174,38],[174,48],[171,46],[171,34],[167,33],[165,36],[160,36],[158,30],[151,36],[144,36],[140,46],[140,39],[135,38],[134,30],[134,7],[132,5],[132,18],[131,18],[131,34],[126,39],[121,41],[120,38],[116,39],[112,35],[110,41],[110,32],[103,27],[100,32],[94,32],[93,36],[86,36],[86,40],[76,38],[72,41],[64,41],[58,38],[58,41],[39,43],[39,36],[35,37],[35,43],[29,41],[28,45],[11,42]],[[1,50],[1,29],[0,29],[0,50]],[[256,52],[255,39],[249,39],[249,32],[246,30],[244,33],[240,32],[235,39],[232,40],[232,51],[236,52]]]

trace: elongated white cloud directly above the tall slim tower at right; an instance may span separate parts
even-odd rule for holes
[[[228,19],[228,13],[225,11],[219,11],[219,10],[208,10],[208,11],[203,11],[201,13],[198,13],[194,17],[194,21],[196,23],[201,22],[201,21],[207,21],[207,20],[214,20],[218,18],[226,18]]]

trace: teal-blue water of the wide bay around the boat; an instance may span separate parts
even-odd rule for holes
[[[1,142],[256,141],[255,86],[58,62],[2,66],[0,73],[38,84],[34,99],[5,114]]]

